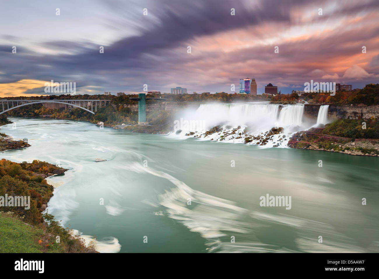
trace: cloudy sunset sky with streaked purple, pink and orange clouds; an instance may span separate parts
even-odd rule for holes
[[[0,1],[2,98],[50,80],[89,95],[379,80],[378,0]]]

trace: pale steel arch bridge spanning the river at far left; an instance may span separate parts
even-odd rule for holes
[[[0,114],[5,113],[9,110],[16,109],[17,107],[23,107],[31,104],[42,104],[42,103],[58,103],[64,104],[66,106],[78,107],[84,109],[88,112],[95,114],[97,108],[106,106],[110,103],[111,100],[80,100],[80,99],[63,99],[63,100],[7,100],[0,99],[0,109],[2,111]]]

